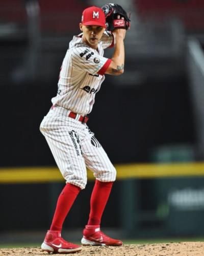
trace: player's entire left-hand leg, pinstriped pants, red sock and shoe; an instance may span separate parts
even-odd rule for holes
[[[73,120],[74,121],[74,120]],[[43,251],[53,253],[73,253],[82,247],[61,238],[63,222],[79,191],[85,188],[86,165],[81,154],[76,122],[59,116],[45,117],[40,130],[53,153],[56,163],[66,180],[60,194],[50,229],[41,245]]]

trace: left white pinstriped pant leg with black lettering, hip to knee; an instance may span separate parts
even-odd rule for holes
[[[40,124],[50,151],[66,183],[84,189],[87,172],[80,145],[80,125],[72,118],[48,113]]]

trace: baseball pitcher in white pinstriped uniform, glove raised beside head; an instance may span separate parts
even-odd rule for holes
[[[116,179],[116,170],[87,126],[87,114],[93,108],[95,95],[105,79],[104,74],[120,75],[124,71],[123,40],[130,20],[120,8],[109,4],[103,9],[92,6],[83,11],[80,23],[82,33],[74,36],[69,43],[60,71],[57,95],[52,98],[53,106],[40,124],[40,131],[66,180],[52,224],[41,245],[43,251],[73,253],[82,249],[65,241],[61,230],[75,198],[86,186],[86,167],[92,170],[96,180],[82,245],[122,245],[122,241],[110,238],[100,230],[100,220]],[[106,25],[107,19],[111,16],[112,33],[106,31],[109,26]],[[111,59],[103,56],[104,49],[108,47],[114,47]]]

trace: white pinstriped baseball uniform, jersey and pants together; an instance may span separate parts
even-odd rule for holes
[[[91,112],[95,94],[104,81],[110,59],[104,49],[113,45],[113,37],[105,33],[98,49],[90,48],[82,34],[74,36],[65,55],[58,82],[58,94],[40,124],[56,163],[67,183],[85,188],[86,167],[102,182],[115,181],[116,169],[104,148],[86,123],[69,117],[70,111],[80,115]]]

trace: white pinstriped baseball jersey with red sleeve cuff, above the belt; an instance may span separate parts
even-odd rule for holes
[[[86,115],[93,108],[95,94],[104,81],[110,59],[104,57],[104,49],[113,45],[113,36],[104,33],[97,50],[89,47],[82,34],[74,36],[64,57],[57,96],[53,105]]]

